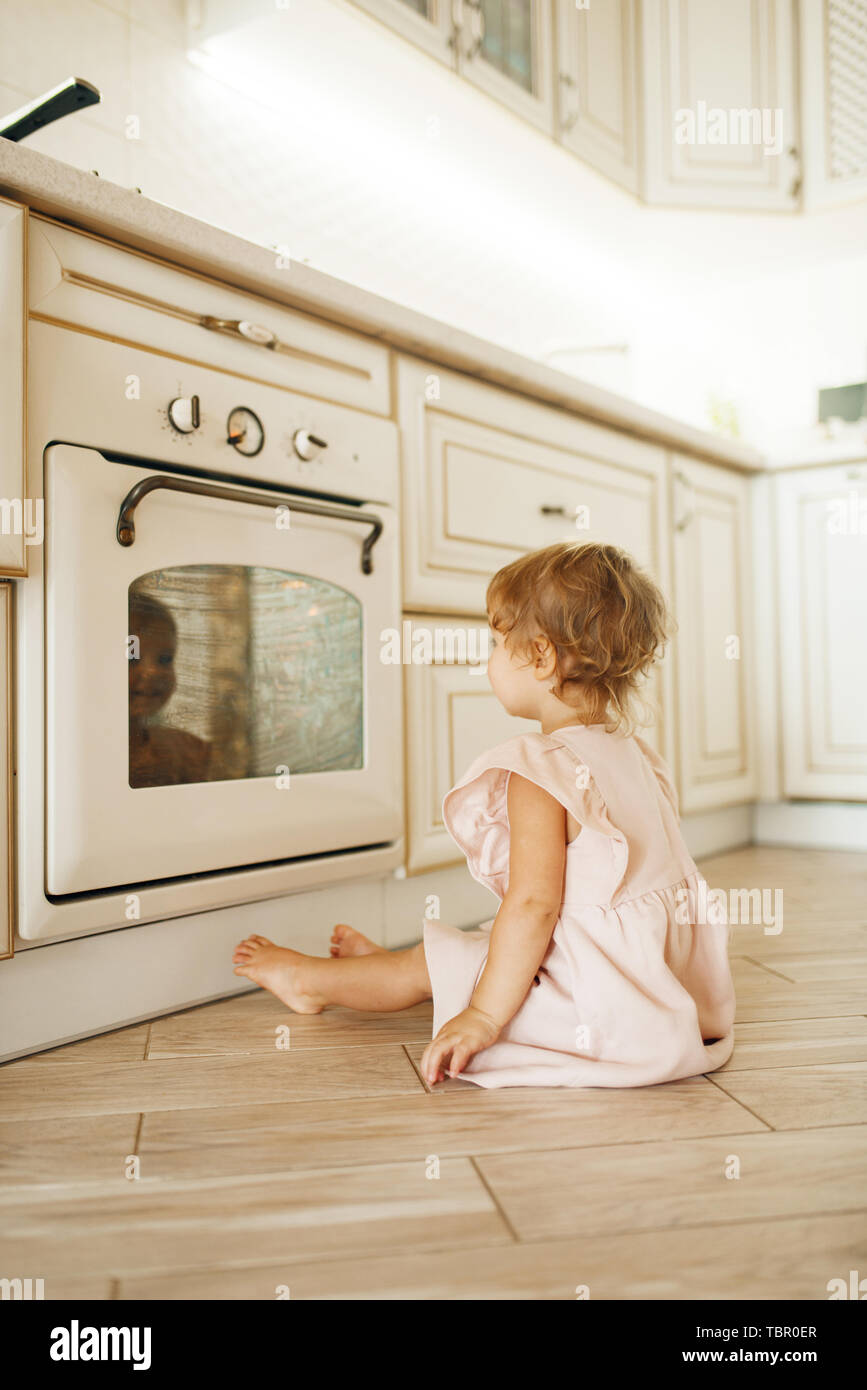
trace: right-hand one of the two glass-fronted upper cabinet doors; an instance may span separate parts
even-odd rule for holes
[[[463,0],[459,68],[518,115],[553,129],[552,22],[546,0]]]

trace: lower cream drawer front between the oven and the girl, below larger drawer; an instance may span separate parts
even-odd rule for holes
[[[488,684],[486,627],[447,614],[411,614],[413,638],[429,634],[442,660],[406,664],[407,872],[463,859],[442,819],[443,796],[470,763],[515,734],[538,730],[507,714]],[[436,645],[439,644],[439,646]],[[407,649],[408,649],[408,644]]]

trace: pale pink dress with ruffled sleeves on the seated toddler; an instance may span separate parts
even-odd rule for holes
[[[490,1087],[617,1087],[722,1066],[735,1012],[728,927],[695,924],[703,880],[663,759],[602,724],[520,734],[478,758],[446,795],[443,819],[472,877],[500,899],[513,771],[556,796],[582,828],[567,847],[563,903],[538,983],[461,1076]],[[425,923],[434,1037],[470,1004],[492,926]]]

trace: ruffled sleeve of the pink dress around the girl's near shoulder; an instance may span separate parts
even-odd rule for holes
[[[556,735],[518,734],[506,744],[482,753],[464,777],[446,794],[443,821],[446,830],[467,856],[470,873],[478,883],[504,898],[509,888],[509,810],[507,791],[511,773],[536,783],[582,828],[597,831],[613,841],[617,867],[613,891],[627,872],[627,838],[613,824],[589,766],[581,762]]]

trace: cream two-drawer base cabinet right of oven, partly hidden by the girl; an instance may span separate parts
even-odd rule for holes
[[[661,448],[410,357],[397,361],[397,398],[404,620],[453,630],[453,648],[463,634],[465,649],[485,628],[452,614],[481,617],[493,573],[556,541],[620,545],[670,596]],[[440,820],[449,787],[486,748],[536,726],[506,714],[460,653],[407,664],[404,688],[407,867],[418,873],[456,862]],[[670,659],[647,695],[659,719],[645,737],[670,756]]]

